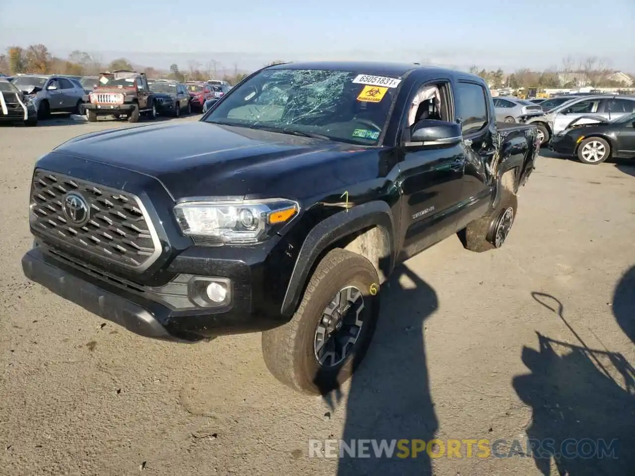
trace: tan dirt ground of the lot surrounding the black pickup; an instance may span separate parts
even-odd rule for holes
[[[0,127],[1,475],[634,474],[635,164],[545,153],[504,248],[471,253],[451,237],[399,267],[366,360],[323,399],[274,380],[259,334],[149,340],[25,279],[34,162],[126,126]],[[557,462],[465,447],[309,458],[309,439],[434,437],[620,446],[617,459]]]

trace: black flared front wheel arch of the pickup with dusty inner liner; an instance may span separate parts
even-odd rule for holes
[[[284,295],[281,314],[295,312],[305,288],[322,258],[343,248],[367,258],[377,269],[380,283],[394,267],[392,212],[383,201],[368,202],[340,211],[319,222],[305,238]]]

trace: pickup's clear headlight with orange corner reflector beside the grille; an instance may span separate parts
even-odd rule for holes
[[[227,244],[255,244],[271,237],[298,215],[297,202],[286,199],[196,201],[174,208],[185,235],[216,237]]]

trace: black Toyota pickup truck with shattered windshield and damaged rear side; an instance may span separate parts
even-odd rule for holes
[[[497,125],[471,74],[270,66],[200,121],[41,157],[23,271],[143,336],[263,331],[276,378],[324,392],[361,361],[396,263],[452,234],[502,245],[537,152],[535,127]]]

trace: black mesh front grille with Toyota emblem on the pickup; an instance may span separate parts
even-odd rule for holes
[[[142,271],[161,244],[136,195],[37,169],[31,185],[31,227],[36,234]]]

